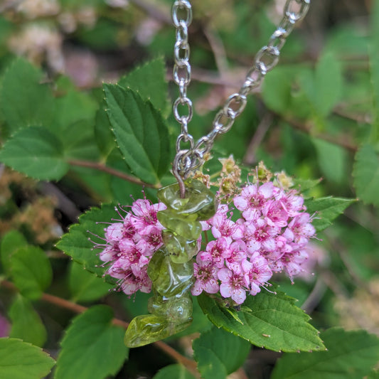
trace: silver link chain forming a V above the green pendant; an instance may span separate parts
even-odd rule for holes
[[[172,8],[172,18],[176,27],[176,43],[174,48],[174,82],[179,87],[179,97],[174,102],[174,117],[181,124],[181,134],[176,140],[176,156],[173,172],[181,185],[183,194],[183,179],[198,169],[204,162],[204,155],[212,149],[215,137],[224,134],[233,126],[235,119],[245,109],[247,95],[262,84],[265,75],[278,63],[280,50],[292,32],[294,26],[301,21],[309,9],[311,0],[287,0],[284,6],[282,20],[277,30],[272,33],[269,42],[255,55],[255,60],[247,72],[245,82],[239,92],[228,97],[223,108],[213,119],[213,128],[195,143],[188,134],[188,122],[191,121],[193,106],[187,97],[187,87],[191,81],[191,65],[189,64],[190,48],[188,44],[188,26],[192,21],[192,9],[188,0],[176,0]],[[181,16],[179,16],[181,14]],[[180,114],[178,107],[187,107],[186,114]],[[182,149],[181,144],[189,147]]]

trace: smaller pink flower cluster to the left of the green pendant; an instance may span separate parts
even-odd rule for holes
[[[106,245],[100,252],[100,260],[109,262],[105,274],[118,279],[119,289],[125,294],[138,290],[151,291],[151,280],[147,276],[147,265],[151,256],[163,245],[163,226],[156,219],[159,210],[166,209],[163,203],[151,204],[146,199],[134,201],[132,212],[119,213],[119,223],[105,229]],[[121,208],[124,211],[124,208]]]

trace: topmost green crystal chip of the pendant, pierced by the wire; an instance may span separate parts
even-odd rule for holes
[[[215,196],[196,179],[185,182],[186,197],[181,198],[178,183],[161,188],[158,191],[159,200],[177,215],[194,215],[196,220],[208,220],[215,214]]]

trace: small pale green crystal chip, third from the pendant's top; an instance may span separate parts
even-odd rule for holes
[[[196,240],[186,240],[169,230],[162,233],[164,246],[171,260],[175,263],[186,263],[191,260],[198,252],[198,243]]]

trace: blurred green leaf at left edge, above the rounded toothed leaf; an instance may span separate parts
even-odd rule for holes
[[[55,103],[50,88],[43,82],[41,70],[18,58],[6,71],[1,90],[0,107],[10,132],[31,124],[50,124]]]

